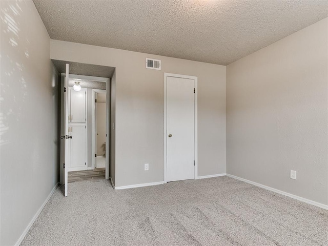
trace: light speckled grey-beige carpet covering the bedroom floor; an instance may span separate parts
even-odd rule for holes
[[[60,189],[21,245],[328,245],[328,211],[226,176]]]

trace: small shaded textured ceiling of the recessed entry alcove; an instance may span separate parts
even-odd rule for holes
[[[84,63],[72,63],[71,61],[65,61],[65,60],[52,59],[52,62],[59,73],[66,72],[67,63],[69,64],[70,74],[111,78],[115,70],[115,68],[113,67],[91,65],[91,64],[84,64]]]

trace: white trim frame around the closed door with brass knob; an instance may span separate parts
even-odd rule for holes
[[[164,183],[167,183],[167,85],[168,85],[168,77],[176,77],[176,78],[187,78],[187,79],[194,79],[195,81],[195,114],[194,114],[194,137],[195,137],[195,166],[194,166],[194,172],[195,177],[194,179],[197,179],[198,177],[198,138],[197,138],[197,77],[196,76],[190,76],[190,75],[182,75],[182,74],[174,74],[174,73],[164,73]]]

